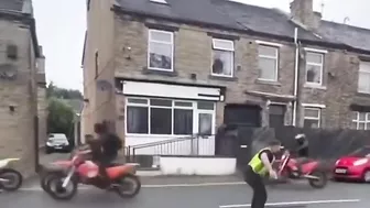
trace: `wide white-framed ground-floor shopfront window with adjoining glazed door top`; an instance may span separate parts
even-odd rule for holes
[[[127,134],[191,135],[215,133],[215,102],[129,97]]]

